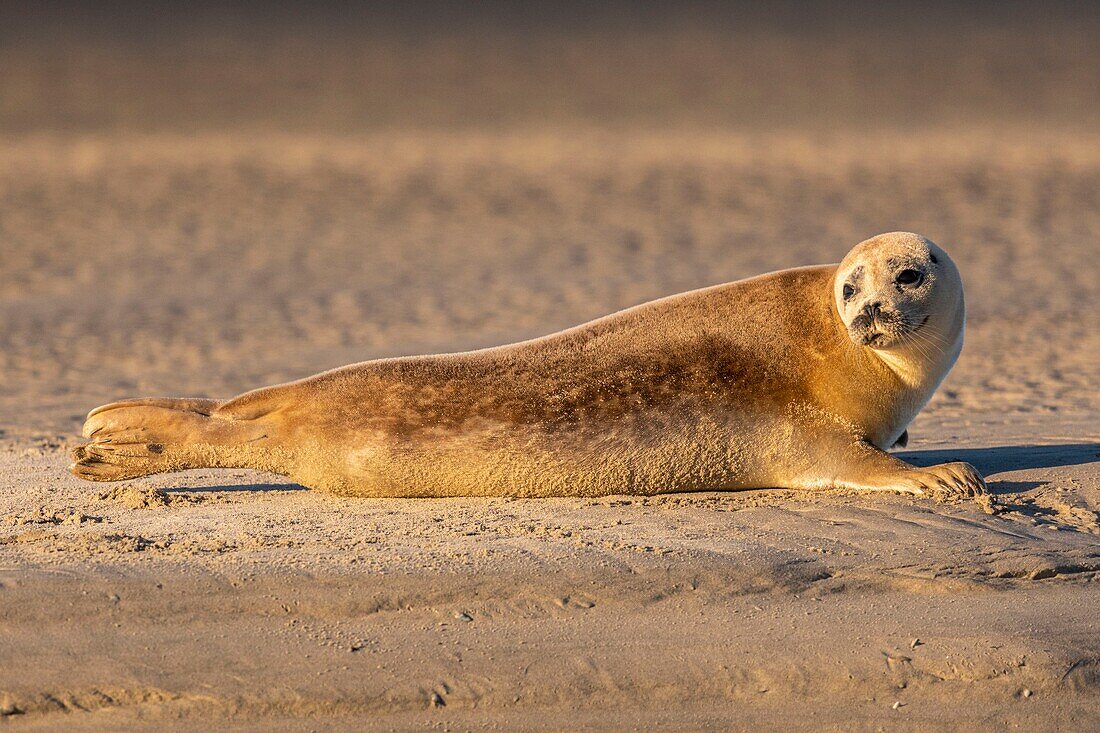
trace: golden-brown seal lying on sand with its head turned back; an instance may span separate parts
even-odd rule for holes
[[[985,492],[904,442],[963,347],[963,282],[909,232],[838,265],[653,300],[543,338],[382,359],[228,401],[94,409],[72,471],[250,468],[356,496],[789,488]]]

